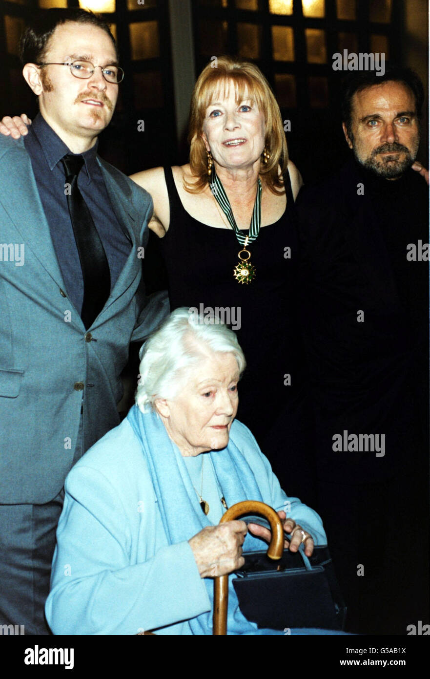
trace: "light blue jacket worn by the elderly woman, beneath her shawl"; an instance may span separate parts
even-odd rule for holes
[[[248,428],[236,420],[230,438],[252,468],[262,500],[277,510],[290,507],[288,515],[311,533],[315,544],[326,544],[319,515],[281,490]],[[149,467],[129,418],[75,465],[65,491],[45,606],[54,634],[134,635],[149,629],[193,634],[188,620],[210,611],[208,591],[187,540],[168,543]],[[256,538],[247,536],[244,551],[248,540]],[[258,543],[265,549],[266,543]],[[255,629],[254,634],[263,632]]]

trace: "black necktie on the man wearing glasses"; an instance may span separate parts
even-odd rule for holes
[[[66,183],[71,185],[71,190],[66,191],[67,205],[83,276],[81,318],[85,329],[88,329],[100,314],[111,293],[111,273],[96,225],[77,185],[77,177],[83,166],[83,157],[64,155],[61,162],[66,173]]]

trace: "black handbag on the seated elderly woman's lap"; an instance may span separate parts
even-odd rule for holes
[[[261,517],[246,517],[247,523],[251,521],[262,524]],[[315,547],[310,559],[303,545],[297,552],[284,550],[280,561],[269,559],[266,551],[243,557],[245,564],[235,571],[233,587],[241,612],[260,629],[345,627],[347,608],[328,547]]]

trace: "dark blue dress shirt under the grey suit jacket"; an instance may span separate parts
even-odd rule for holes
[[[75,234],[64,192],[64,168],[61,159],[70,149],[38,113],[24,136],[24,145],[31,158],[39,196],[50,226],[52,242],[66,285],[66,292],[81,313],[83,277]],[[111,272],[111,291],[125,261],[132,242],[124,232],[113,211],[102,170],[96,160],[98,141],[92,149],[82,153],[84,164],[78,177],[79,191],[90,210],[102,241]]]

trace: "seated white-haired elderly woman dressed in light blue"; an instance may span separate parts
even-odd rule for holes
[[[270,537],[244,521],[218,526],[241,500],[279,511],[292,551],[326,544],[317,513],[286,496],[234,421],[244,367],[235,333],[186,309],[146,342],[136,405],[66,479],[45,608],[54,634],[212,634],[213,577]],[[227,629],[284,634],[243,617],[231,583]]]

